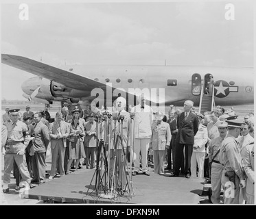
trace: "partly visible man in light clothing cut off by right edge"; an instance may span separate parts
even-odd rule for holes
[[[254,142],[248,144],[246,146],[244,152],[244,171],[246,172],[246,197],[247,201],[246,204],[254,204],[254,182],[255,182],[255,175],[254,175]]]

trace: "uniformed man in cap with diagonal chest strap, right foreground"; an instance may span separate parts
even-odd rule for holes
[[[211,165],[211,202],[214,204],[220,203],[220,191],[221,191],[221,177],[223,166],[220,164],[218,154],[220,153],[220,144],[226,138],[228,132],[228,123],[220,121],[218,124],[218,131],[220,136],[213,138],[209,142],[209,163]]]

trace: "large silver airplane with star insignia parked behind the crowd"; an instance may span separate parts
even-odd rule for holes
[[[194,105],[200,105],[202,96],[207,96],[209,75],[213,75],[215,81],[215,105],[250,104],[254,100],[252,67],[73,65],[60,69],[8,54],[2,54],[2,63],[36,75],[23,82],[23,96],[47,104],[69,101],[82,105],[96,98],[91,92],[97,88],[104,93],[100,98],[105,105],[109,99],[112,104],[117,98],[116,92],[121,90],[121,95],[132,99],[131,105],[135,105],[136,89],[156,92],[156,99],[151,99],[150,104],[182,106],[186,100],[191,100]],[[108,96],[109,90],[114,95]]]

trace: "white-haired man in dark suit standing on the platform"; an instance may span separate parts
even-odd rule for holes
[[[185,101],[184,112],[177,118],[178,133],[176,136],[176,151],[175,151],[175,170],[170,177],[178,177],[181,168],[183,157],[183,150],[185,148],[185,177],[189,178],[190,160],[193,152],[194,136],[198,131],[198,118],[196,114],[191,112],[194,103],[192,101]]]

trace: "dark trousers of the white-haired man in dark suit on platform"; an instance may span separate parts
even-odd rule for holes
[[[180,168],[182,166],[183,163],[183,151],[185,148],[185,170],[184,173],[185,174],[189,174],[191,175],[191,156],[193,153],[193,144],[176,144],[176,153],[175,153],[175,160],[176,160],[176,164],[175,164],[175,170],[174,170],[174,174],[175,175],[179,175],[180,172]]]

